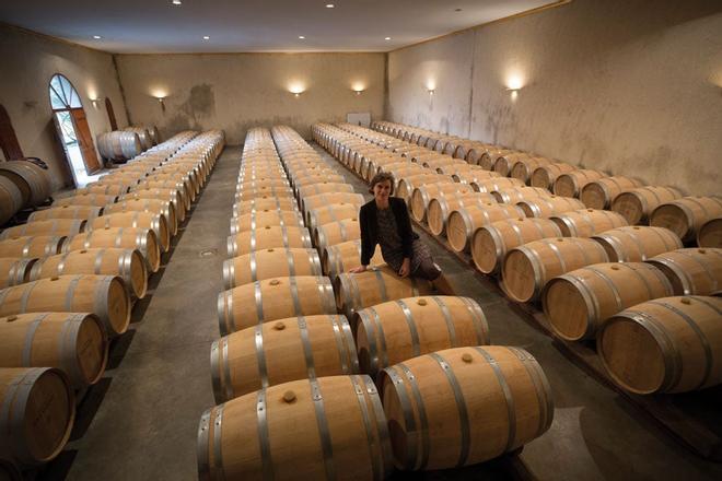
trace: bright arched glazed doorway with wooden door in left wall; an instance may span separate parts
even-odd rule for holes
[[[68,157],[75,186],[84,186],[89,174],[101,168],[80,95],[61,74],[53,75],[49,85],[53,119]]]

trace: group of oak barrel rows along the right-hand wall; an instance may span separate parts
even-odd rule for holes
[[[434,141],[450,141],[443,136],[389,122],[374,127],[379,132],[346,124],[318,125],[314,136],[345,163],[359,155],[383,155],[382,151],[406,157],[407,164],[399,164],[400,168],[394,164],[388,172],[400,186],[396,195],[409,202],[415,220],[426,223],[432,234],[445,236],[451,249],[469,253],[476,268],[497,278],[510,300],[540,302],[556,336],[570,342],[596,339],[603,364],[620,387],[643,394],[686,390],[677,382],[662,383],[662,377],[654,389],[636,388],[643,373],[629,374],[637,376],[634,382],[619,373],[633,371],[634,363],[644,366],[630,352],[639,356],[662,352],[666,364],[657,360],[657,366],[665,366],[657,375],[683,375],[678,363],[669,361],[677,355],[669,345],[689,342],[684,338],[689,332],[697,332],[704,353],[687,362],[708,366],[708,375],[702,376],[703,382],[698,379],[696,387],[722,382],[713,361],[714,351],[722,347],[722,341],[718,342],[722,331],[717,328],[719,322],[707,320],[713,313],[722,315],[719,301],[710,297],[719,294],[722,285],[722,249],[713,247],[712,241],[719,236],[713,226],[719,225],[722,200],[683,198],[673,188],[645,187],[636,179],[607,177],[533,154],[479,144],[467,144],[465,152],[473,150],[475,157],[467,156],[469,165],[457,166],[435,157],[445,148],[436,148]],[[399,149],[398,139],[411,149]],[[417,149],[420,145],[426,152]],[[457,151],[446,151],[459,156]],[[434,160],[426,161],[430,156]],[[436,172],[429,172],[429,167]],[[481,172],[489,177],[481,178]],[[479,197],[485,192],[490,197]],[[651,225],[634,225],[640,223]],[[706,224],[711,226],[706,227],[706,238],[712,247],[683,248],[703,235]],[[691,295],[699,297],[684,297]],[[633,317],[626,309],[636,312],[638,305],[649,309],[644,303],[650,302],[667,306],[664,313],[659,308],[653,313],[662,319],[655,320],[656,329],[642,321],[643,328],[616,320],[609,328],[615,333],[605,335],[609,319]],[[700,308],[697,303],[701,302],[712,306],[711,310]],[[683,307],[691,303],[696,308],[678,314],[678,303]],[[689,320],[691,331],[678,332],[675,322],[679,318]],[[632,333],[639,329],[649,329],[652,335],[640,340]]]

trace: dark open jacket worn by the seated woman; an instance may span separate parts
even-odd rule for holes
[[[419,235],[411,228],[411,218],[409,218],[406,202],[398,197],[389,197],[388,207],[396,219],[398,235],[401,237],[404,257],[410,259],[411,254],[414,253],[411,247],[414,239],[419,238]],[[361,265],[369,266],[373,253],[376,250],[376,245],[379,244],[379,223],[375,200],[372,199],[371,202],[361,206],[359,224],[361,226]]]

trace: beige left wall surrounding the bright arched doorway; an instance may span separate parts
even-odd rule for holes
[[[113,57],[0,24],[0,103],[8,110],[23,153],[48,163],[54,188],[72,185],[53,124],[50,78],[62,73],[72,82],[95,139],[110,130],[106,96],[113,103],[118,126],[128,124]],[[101,98],[97,108],[91,103],[91,95]]]

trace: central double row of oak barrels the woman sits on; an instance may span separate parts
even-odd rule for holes
[[[224,267],[233,289],[219,296],[226,336],[211,348],[219,406],[199,424],[201,479],[384,479],[394,466],[479,462],[548,429],[544,373],[523,350],[486,347],[473,300],[431,295],[381,258],[347,273],[363,201],[292,129],[248,132],[229,254],[249,254]]]

